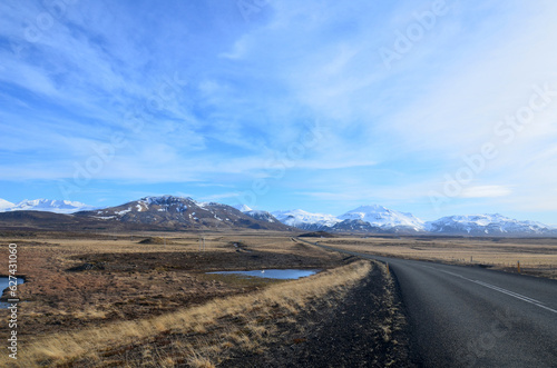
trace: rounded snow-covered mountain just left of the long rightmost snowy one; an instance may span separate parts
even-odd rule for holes
[[[412,213],[399,212],[383,206],[361,206],[339,216],[341,220],[362,220],[374,227],[410,231],[423,231],[424,222]]]

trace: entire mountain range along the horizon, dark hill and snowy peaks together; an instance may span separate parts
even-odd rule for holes
[[[47,212],[38,213],[36,211]],[[0,226],[18,223],[41,227],[101,229],[267,229],[358,233],[451,236],[557,236],[557,229],[535,221],[519,221],[499,213],[449,216],[422,221],[412,213],[378,205],[361,206],[341,216],[302,209],[267,212],[245,205],[227,206],[175,196],[145,197],[109,208],[94,208],[65,200],[23,200],[17,205],[0,199]],[[17,213],[18,212],[18,213]],[[49,217],[49,212],[58,216]]]

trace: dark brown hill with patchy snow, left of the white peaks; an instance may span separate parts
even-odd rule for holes
[[[145,197],[116,207],[72,215],[18,210],[0,213],[2,229],[49,230],[292,230],[280,221],[253,218],[237,209],[192,198]]]

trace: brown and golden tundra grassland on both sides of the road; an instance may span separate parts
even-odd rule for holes
[[[381,304],[372,310],[377,318],[368,329],[375,335],[368,342],[383,356],[383,365],[395,362],[405,349],[397,335],[404,328],[404,316],[384,266],[300,242],[295,236],[4,231],[0,267],[8,270],[7,246],[17,243],[18,275],[26,284],[18,288],[18,360],[2,355],[0,365],[242,367],[246,359],[270,364],[285,347],[311,348],[310,337],[320,334],[320,325],[333,320],[335,310],[365,282],[375,285]],[[557,278],[557,239],[306,239],[401,258],[455,263],[470,263],[471,258],[473,265],[512,272],[520,261],[521,272]],[[206,273],[271,268],[324,271],[292,281]],[[0,318],[7,320],[7,309],[0,309]],[[0,335],[8,336],[7,324],[0,326]]]

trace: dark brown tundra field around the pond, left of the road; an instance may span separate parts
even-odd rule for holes
[[[340,255],[304,248],[287,235],[265,231],[2,236],[0,269],[8,269],[7,245],[16,242],[18,273],[27,277],[18,289],[18,296],[26,301],[21,304],[26,316],[20,326],[22,341],[55,330],[154,317],[272,284],[205,275],[207,271],[326,269],[344,263]],[[198,250],[199,236],[206,239],[205,251]],[[140,243],[147,238],[166,238],[167,245]],[[242,243],[242,249],[234,243]],[[75,270],[84,265],[92,265],[94,269]],[[0,310],[0,318],[6,316],[7,311]],[[8,327],[0,324],[0,335],[7,331]]]

